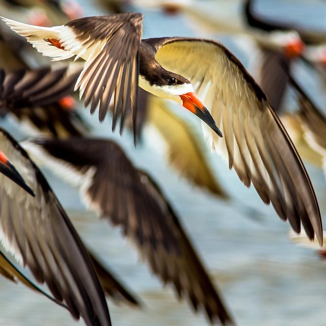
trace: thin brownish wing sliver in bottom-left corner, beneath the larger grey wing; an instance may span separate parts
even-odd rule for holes
[[[29,287],[30,289],[46,296],[51,301],[55,302],[59,306],[67,308],[62,302],[59,302],[51,295],[44,292],[38,286],[36,286],[33,282],[31,282],[28,278],[26,278],[16,267],[12,264],[9,259],[0,251],[0,274],[2,274],[5,278],[10,281],[16,282],[17,280],[23,283],[25,286]]]

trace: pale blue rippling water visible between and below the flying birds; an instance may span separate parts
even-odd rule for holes
[[[204,2],[203,2],[204,3]],[[222,2],[221,2],[222,3]],[[259,10],[269,15],[292,18],[290,8],[295,5],[296,17],[309,20],[318,28],[325,27],[325,4],[308,1],[258,1]],[[293,5],[294,3],[294,5]],[[310,2],[309,2],[310,3]],[[89,3],[89,14],[99,13]],[[221,5],[222,6],[222,5]],[[285,6],[287,10],[283,11]],[[214,7],[217,8],[217,7]],[[288,14],[288,15],[286,15]],[[315,16],[314,16],[315,15]],[[309,19],[308,19],[308,18]],[[192,35],[184,18],[162,17],[146,12],[144,34]],[[232,50],[236,46],[223,39]],[[236,55],[248,62],[243,53]],[[310,76],[303,67],[299,76]],[[302,78],[313,83],[312,78]],[[317,100],[322,94],[313,89]],[[88,112],[85,111],[88,117]],[[323,325],[326,318],[324,302],[326,262],[312,251],[295,246],[288,239],[288,224],[282,223],[273,208],[265,206],[254,189],[247,189],[233,171],[214,154],[207,153],[216,177],[223,183],[232,201],[220,201],[182,180],[166,163],[164,154],[146,142],[135,150],[127,132],[110,134],[110,122],[99,124],[89,118],[93,133],[118,141],[134,164],[148,170],[164,189],[178,216],[195,243],[210,275],[219,286],[239,325]],[[196,119],[191,119],[199,131]],[[6,127],[10,127],[7,123]],[[11,130],[15,135],[14,126]],[[326,210],[326,184],[322,171],[307,165],[315,187],[322,214]],[[63,184],[47,170],[49,183],[67,209],[79,234],[101,260],[141,298],[144,309],[117,307],[108,301],[114,325],[206,325],[204,314],[195,314],[186,302],[178,303],[173,291],[162,288],[148,268],[140,262],[131,244],[104,220],[86,212],[75,189]],[[167,177],[169,176],[169,177]],[[15,285],[0,278],[0,325],[76,325],[69,313],[23,285]],[[83,324],[80,321],[79,324]]]

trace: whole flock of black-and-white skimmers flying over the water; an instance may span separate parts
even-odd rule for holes
[[[191,1],[144,3],[167,14],[199,14]],[[143,126],[153,124],[169,144],[175,169],[228,198],[212,175],[198,135],[152,95],[180,103],[202,120],[208,146],[228,161],[244,185],[253,184],[261,200],[289,221],[293,237],[322,246],[320,210],[299,153],[322,166],[326,118],[295,80],[291,66],[303,60],[325,78],[326,32],[258,17],[253,0],[243,2],[241,26],[206,19],[209,29],[249,37],[259,47],[254,79],[217,41],[142,40],[142,14],[123,13],[126,2],[103,0],[105,5],[114,14],[78,18],[82,10],[75,3],[1,3],[6,17],[0,25],[1,115],[15,116],[42,135],[19,144],[0,128],[1,240],[51,294],[21,274],[2,251],[0,273],[47,296],[73,318],[84,318],[87,325],[111,325],[105,295],[140,305],[84,246],[35,157],[80,188],[88,209],[120,226],[178,297],[187,297],[212,323],[235,324],[158,184],[114,141],[87,136],[90,126],[76,110],[74,91],[79,90],[79,100],[91,113],[98,111],[100,121],[111,114],[113,129],[120,121],[120,132],[124,126],[132,130],[135,144],[144,137]],[[45,57],[67,60],[66,65],[50,65]],[[283,124],[279,114],[287,85],[300,110],[288,114]]]

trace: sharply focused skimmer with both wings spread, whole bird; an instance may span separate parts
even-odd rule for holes
[[[99,120],[112,102],[113,127],[120,116],[122,129],[130,112],[135,127],[138,84],[195,113],[207,145],[229,161],[244,185],[253,183],[294,231],[300,233],[302,222],[308,237],[316,235],[322,244],[320,210],[304,164],[266,95],[222,43],[141,40],[140,13],[84,17],[52,28],[2,19],[53,60],[85,59],[75,89],[85,105],[91,103],[91,113],[99,104]]]

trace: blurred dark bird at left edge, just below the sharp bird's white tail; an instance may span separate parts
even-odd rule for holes
[[[0,69],[0,114],[13,116],[34,135],[82,135],[89,126],[70,96],[78,72],[43,67],[14,71]]]

